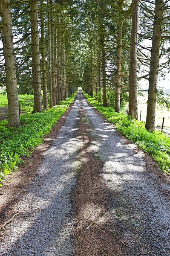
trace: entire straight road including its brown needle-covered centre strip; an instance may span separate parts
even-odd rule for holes
[[[28,188],[10,194],[20,213],[0,231],[0,255],[169,256],[170,186],[143,156],[79,91]],[[0,195],[6,220],[14,179]]]

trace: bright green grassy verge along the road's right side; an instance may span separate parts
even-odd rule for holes
[[[170,173],[170,137],[160,131],[150,133],[140,122],[125,113],[116,113],[113,108],[106,108],[91,96],[84,93],[89,103],[115,125],[124,136],[133,141],[144,152],[151,154],[161,166],[162,171]]]

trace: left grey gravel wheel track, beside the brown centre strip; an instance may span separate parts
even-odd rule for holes
[[[76,138],[79,102],[75,102],[28,194],[20,202],[21,213],[4,230],[0,255],[72,255],[73,240],[71,191],[75,186],[82,142]]]

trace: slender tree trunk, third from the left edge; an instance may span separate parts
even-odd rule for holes
[[[41,21],[41,55],[42,55],[42,75],[43,75],[43,109],[48,108],[47,84],[46,84],[46,50],[44,42],[44,15],[43,0],[40,1],[40,21]]]

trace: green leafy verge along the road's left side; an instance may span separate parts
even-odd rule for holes
[[[45,134],[75,98],[74,93],[69,98],[49,110],[41,113],[25,113],[20,116],[19,128],[7,128],[7,120],[0,121],[0,186],[2,180],[12,170],[22,163],[21,156],[29,156],[31,149],[39,145]]]

